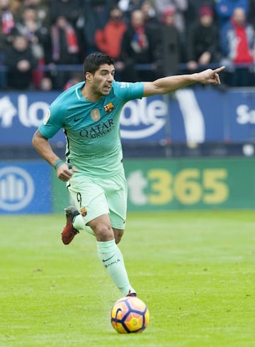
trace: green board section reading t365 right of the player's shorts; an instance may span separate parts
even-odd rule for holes
[[[254,159],[127,161],[130,210],[255,207]]]

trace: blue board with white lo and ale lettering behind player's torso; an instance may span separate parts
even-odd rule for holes
[[[0,144],[29,144],[57,92],[5,93],[0,96]],[[165,138],[168,108],[162,98],[130,101],[123,109],[123,140],[160,141]],[[51,142],[64,142],[60,131]]]

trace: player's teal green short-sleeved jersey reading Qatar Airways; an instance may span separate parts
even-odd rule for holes
[[[69,163],[92,176],[113,175],[123,158],[121,110],[128,101],[142,98],[145,84],[113,81],[108,96],[91,102],[81,94],[84,83],[75,84],[52,102],[39,131],[50,139],[62,128]]]

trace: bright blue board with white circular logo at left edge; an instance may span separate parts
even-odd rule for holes
[[[42,161],[0,163],[0,215],[51,212],[51,172]]]

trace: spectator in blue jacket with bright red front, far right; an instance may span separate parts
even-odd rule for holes
[[[226,65],[237,67],[228,76],[229,86],[254,85],[254,75],[249,70],[249,65],[254,62],[254,42],[254,28],[247,23],[244,8],[234,8],[220,44],[222,54],[227,59]]]

